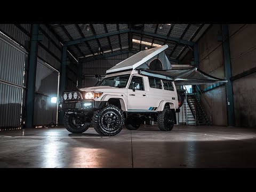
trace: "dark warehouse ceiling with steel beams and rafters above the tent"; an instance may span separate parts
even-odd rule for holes
[[[140,51],[167,44],[165,50],[170,59],[180,60],[185,44],[171,41],[169,37],[194,41],[203,24],[51,24],[49,25],[63,43],[95,37],[68,46],[75,58],[97,58],[99,54],[120,51]],[[134,29],[136,33],[127,30]],[[113,35],[113,32],[115,35]],[[103,34],[106,36],[102,37]],[[109,34],[109,35],[108,35]],[[100,38],[98,38],[100,36]]]

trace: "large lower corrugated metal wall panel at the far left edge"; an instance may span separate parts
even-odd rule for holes
[[[0,129],[21,126],[27,53],[0,34]]]

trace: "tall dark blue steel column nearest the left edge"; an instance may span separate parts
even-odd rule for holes
[[[39,24],[31,25],[31,37],[29,42],[28,55],[28,75],[26,91],[26,128],[32,128],[34,124],[34,105],[35,105],[35,84],[36,84],[36,66],[38,52]]]

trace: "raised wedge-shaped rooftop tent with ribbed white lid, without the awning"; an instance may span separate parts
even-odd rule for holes
[[[109,73],[116,73],[117,71],[129,69],[151,69],[151,70],[167,70],[171,69],[171,63],[167,59],[164,50],[168,45],[155,47],[148,50],[140,51],[122,62],[117,63],[114,67],[106,71]]]

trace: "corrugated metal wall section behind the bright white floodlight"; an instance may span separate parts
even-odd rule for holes
[[[34,125],[56,122],[57,103],[51,103],[58,95],[58,71],[37,59]]]

